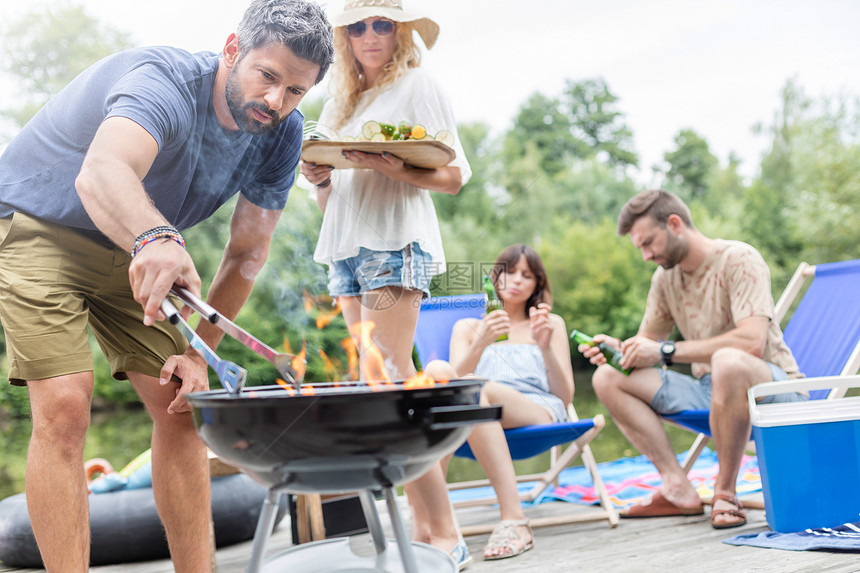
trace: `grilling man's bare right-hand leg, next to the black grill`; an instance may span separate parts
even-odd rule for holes
[[[168,414],[173,384],[129,373],[152,416],[152,487],[158,515],[167,532],[170,556],[178,573],[212,570],[212,510],[206,446],[194,429],[191,413]]]

